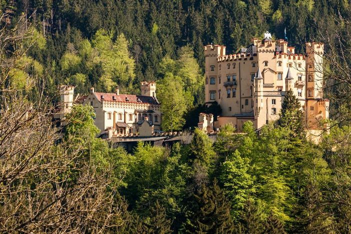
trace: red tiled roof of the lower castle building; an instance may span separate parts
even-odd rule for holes
[[[101,95],[103,95],[103,100],[105,101],[117,101],[117,102],[129,102],[129,103],[147,103],[147,104],[158,104],[155,98],[152,96],[141,96],[141,95],[133,95],[133,94],[119,94],[116,93],[106,93],[106,92],[94,92],[98,101],[101,101]],[[114,96],[114,100],[112,99]],[[125,98],[128,98],[128,101]],[[140,101],[137,101],[137,99]]]

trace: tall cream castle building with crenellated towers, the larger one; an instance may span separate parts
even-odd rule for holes
[[[206,45],[205,101],[222,108],[214,127],[232,123],[241,130],[251,120],[256,129],[278,119],[286,90],[291,89],[304,110],[307,129],[319,129],[328,118],[329,101],[323,99],[323,43],[306,43],[306,53],[296,54],[283,39],[272,40],[269,33],[225,54],[224,45]]]

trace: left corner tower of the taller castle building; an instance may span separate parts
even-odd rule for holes
[[[204,46],[205,56],[205,103],[210,103],[218,98],[218,67],[217,58],[225,55],[224,45]],[[211,82],[212,79],[212,82]],[[213,82],[214,81],[214,82]]]

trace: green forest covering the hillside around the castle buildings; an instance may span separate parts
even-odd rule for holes
[[[351,232],[351,15],[347,0],[0,1],[0,232]],[[304,53],[324,46],[331,119],[321,142],[287,93],[260,134],[193,128],[204,106],[203,45],[236,52],[270,31]],[[155,80],[164,130],[189,144],[96,138],[91,106],[74,105],[65,135],[51,116],[57,85],[139,93]]]

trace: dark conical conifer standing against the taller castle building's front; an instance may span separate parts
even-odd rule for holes
[[[303,112],[300,109],[300,102],[292,90],[285,93],[284,101],[281,104],[281,112],[278,124],[287,127],[293,135],[300,135],[303,131]]]

